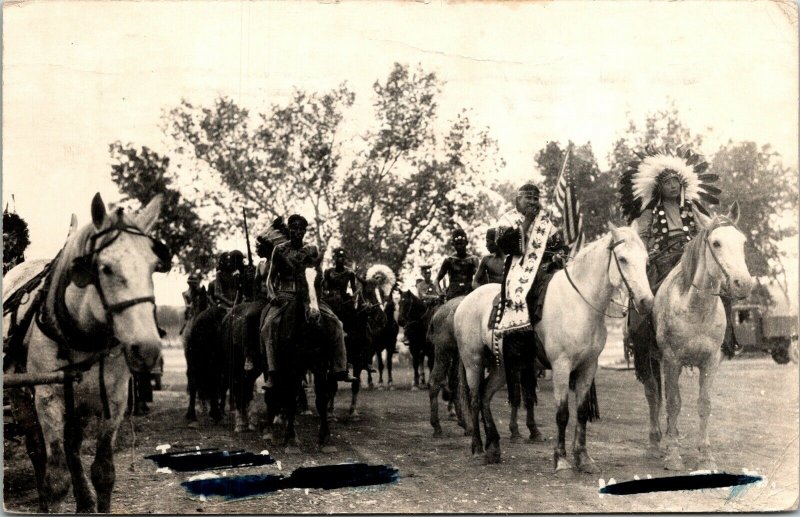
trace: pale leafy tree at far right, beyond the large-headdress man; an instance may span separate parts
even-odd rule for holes
[[[797,171],[783,166],[769,145],[729,141],[714,155],[711,172],[720,177],[720,211],[739,202],[738,226],[747,237],[750,273],[785,275],[778,242],[797,235]]]

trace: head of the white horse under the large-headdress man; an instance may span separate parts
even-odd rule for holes
[[[723,286],[723,289],[733,298],[747,298],[753,289],[754,280],[747,270],[745,263],[744,243],[745,236],[736,227],[739,221],[739,203],[734,202],[726,215],[715,215],[710,220],[700,219],[703,228],[693,241],[692,248],[703,249],[703,263],[705,274],[709,275]],[[699,249],[690,250],[698,254]],[[699,258],[699,257],[698,257]],[[691,261],[688,261],[691,265]],[[699,264],[695,264],[695,271],[691,281],[701,282],[695,278]],[[689,275],[690,272],[685,272]],[[703,287],[700,286],[702,289]]]

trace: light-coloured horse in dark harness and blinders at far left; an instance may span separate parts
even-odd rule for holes
[[[157,196],[136,216],[128,216],[121,208],[108,213],[96,195],[92,223],[73,227],[48,278],[31,292],[30,300],[36,300],[48,289],[38,309],[40,321],[31,324],[23,341],[27,373],[62,370],[81,377],[74,384],[35,389],[44,450],[31,456],[41,511],[58,511],[70,485],[77,513],[111,511],[114,441],[130,371],[149,371],[161,348],[152,274],[166,270],[170,257],[163,244],[148,236],[161,203]],[[12,270],[7,276],[15,275]],[[91,484],[80,455],[90,421],[97,433]]]

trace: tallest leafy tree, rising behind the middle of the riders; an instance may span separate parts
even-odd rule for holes
[[[340,222],[343,245],[362,264],[410,267],[423,234],[444,249],[450,231],[474,225],[497,204],[486,173],[502,160],[488,130],[474,128],[462,111],[436,138],[441,85],[435,74],[398,63],[373,85],[380,129],[365,136],[367,148],[348,171]]]

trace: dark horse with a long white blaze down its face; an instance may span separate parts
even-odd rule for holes
[[[263,437],[267,442],[273,440],[272,423],[277,415],[283,415],[286,432],[283,445],[287,451],[298,450],[295,433],[297,399],[303,389],[303,377],[307,371],[314,375],[314,393],[319,414],[318,443],[323,452],[335,450],[330,445],[328,426],[328,401],[334,384],[330,373],[333,364],[334,346],[331,340],[340,332],[340,323],[335,316],[320,311],[318,294],[322,282],[319,275],[319,261],[307,258],[303,281],[297,279],[295,293],[285,300],[284,311],[277,324],[275,339],[277,372],[275,386],[266,393],[267,424]],[[280,303],[281,294],[272,303]],[[265,329],[261,329],[262,340]]]

